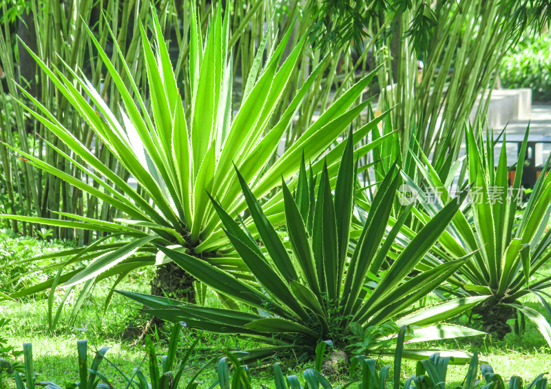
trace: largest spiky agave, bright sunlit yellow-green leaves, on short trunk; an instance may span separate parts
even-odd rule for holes
[[[67,163],[78,168],[79,174],[65,174],[55,166],[28,152],[16,150],[32,166],[61,177],[67,183],[109,203],[117,210],[113,220],[92,219],[67,212],[58,212],[59,219],[0,215],[32,223],[64,228],[95,230],[103,235],[85,250],[60,252],[76,254],[69,261],[58,261],[59,275],[39,286],[29,288],[15,297],[45,290],[65,283],[74,286],[86,282],[90,290],[94,281],[113,275],[124,277],[128,272],[145,265],[170,262],[156,246],[171,246],[202,257],[212,265],[233,270],[245,270],[239,259],[220,257],[218,250],[227,245],[220,220],[207,196],[207,191],[218,198],[229,212],[245,209],[240,197],[240,186],[232,166],[238,166],[242,178],[251,185],[253,193],[262,197],[278,187],[280,177],[289,179],[298,172],[301,154],[315,159],[349,127],[353,119],[368,106],[369,101],[355,104],[375,74],[372,72],[335,99],[320,117],[302,131],[302,135],[287,148],[275,162],[271,161],[286,130],[300,109],[306,94],[322,66],[313,69],[309,77],[290,101],[282,101],[284,91],[293,82],[290,74],[304,48],[304,39],[282,59],[290,31],[262,66],[265,40],[258,48],[252,70],[247,78],[237,112],[232,101],[231,53],[228,48],[229,17],[222,19],[220,8],[211,16],[209,31],[202,37],[196,14],[191,7],[189,77],[191,92],[181,96],[177,74],[174,74],[167,45],[163,40],[155,12],[152,12],[153,43],[141,28],[143,55],[147,67],[149,99],[143,97],[137,83],[129,74],[132,63],[126,63],[121,48],[114,39],[116,61],[122,63],[129,82],[125,83],[116,71],[114,61],[107,57],[101,44],[90,32],[90,39],[102,57],[112,81],[121,95],[120,110],[110,110],[90,81],[65,64],[66,72],[44,63],[32,54],[45,74],[61,94],[79,112],[90,126],[101,146],[118,161],[120,170],[112,171],[97,157],[98,150],[89,150],[65,128],[56,114],[49,112],[39,101],[25,93],[37,110],[28,111],[48,128],[72,152],[56,150]],[[129,89],[127,89],[129,88]],[[130,92],[133,92],[132,94]],[[135,98],[132,96],[136,96]],[[90,98],[90,102],[86,97]],[[189,110],[184,109],[186,99]],[[189,103],[191,101],[191,103]],[[278,107],[283,106],[284,110]],[[351,108],[352,107],[352,108]],[[280,114],[276,112],[282,112]],[[378,118],[357,129],[357,138],[363,139],[376,126]],[[363,146],[359,157],[384,141],[384,138]],[[305,147],[305,146],[308,147]],[[9,146],[8,146],[9,147]],[[342,150],[337,146],[335,150]],[[338,154],[329,153],[330,163],[338,161]],[[138,183],[133,188],[123,176],[129,172]],[[264,208],[275,225],[283,223],[277,204],[277,191],[270,208]],[[249,223],[249,221],[245,221]],[[114,237],[131,237],[129,241],[106,241]],[[136,257],[136,253],[141,253]],[[52,257],[52,256],[49,256]],[[45,257],[42,257],[44,259]],[[63,271],[73,263],[76,270]],[[85,264],[87,263],[87,264]],[[75,265],[76,264],[76,265]],[[79,265],[80,264],[80,265]],[[178,266],[165,266],[166,277],[176,278],[177,289],[193,288],[192,279]],[[177,270],[180,270],[178,273]],[[176,277],[174,275],[176,274]],[[118,278],[121,279],[120,277]],[[163,281],[163,280],[161,280]],[[163,287],[161,286],[161,289]],[[53,289],[53,288],[52,288]],[[193,295],[190,295],[193,297]]]

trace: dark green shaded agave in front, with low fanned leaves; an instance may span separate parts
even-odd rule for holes
[[[306,174],[304,163],[294,196],[282,181],[288,241],[278,235],[240,172],[237,177],[263,246],[251,239],[249,230],[242,229],[211,197],[229,241],[252,276],[250,279],[237,279],[227,270],[209,266],[185,252],[160,247],[196,279],[250,307],[248,312],[121,293],[152,308],[149,312],[156,317],[185,321],[192,328],[211,332],[259,337],[271,345],[251,350],[246,358],[253,360],[276,352],[311,356],[316,344],[324,339],[345,348],[349,346],[352,330],[357,333],[358,329],[383,326],[390,321],[395,321],[398,327],[422,328],[417,333],[413,331],[410,341],[480,334],[470,328],[437,323],[461,314],[486,297],[455,299],[411,312],[417,301],[465,262],[457,259],[425,272],[413,272],[448,226],[460,201],[451,201],[402,252],[393,256],[393,261],[388,261],[393,240],[411,209],[404,212],[384,240],[400,181],[393,166],[373,199],[363,229],[358,231],[357,243],[353,244],[351,235],[356,234],[351,232],[351,226],[357,172],[353,143],[351,135],[340,166],[333,163],[328,167],[325,161],[318,185],[312,171]],[[335,167],[338,173],[333,196],[330,177],[334,174],[330,172]],[[370,348],[385,341],[388,336],[375,337]]]

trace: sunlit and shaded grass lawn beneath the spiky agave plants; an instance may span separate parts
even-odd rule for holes
[[[118,288],[123,290],[132,290],[136,292],[147,292],[149,290],[149,281],[147,273],[138,275],[134,279],[128,279],[119,284]],[[21,345],[25,341],[33,344],[34,368],[39,372],[39,379],[54,381],[63,384],[66,381],[78,381],[77,361],[76,361],[76,340],[87,339],[89,343],[90,355],[103,346],[110,346],[107,352],[107,359],[111,361],[125,375],[132,375],[134,368],[141,366],[144,372],[147,372],[147,361],[145,361],[145,352],[143,344],[135,344],[134,339],[141,327],[147,322],[147,315],[140,312],[141,306],[133,301],[129,301],[119,295],[114,295],[110,308],[104,312],[103,303],[109,292],[108,283],[100,283],[90,299],[85,301],[83,310],[79,315],[70,321],[71,309],[65,308],[61,314],[61,320],[54,334],[48,329],[48,303],[42,301],[27,301],[25,303],[2,303],[0,305],[0,317],[11,319],[11,323],[2,329],[1,336],[7,339],[11,346]],[[59,292],[61,299],[61,291]],[[72,297],[76,298],[76,297]],[[214,296],[207,297],[210,304],[216,305]],[[528,296],[524,299],[533,308],[543,312],[535,297]],[[467,318],[462,317],[461,323],[466,323]],[[512,322],[512,321],[511,321]],[[134,327],[136,330],[129,336],[125,335],[128,327]],[[169,327],[169,326],[168,326]],[[164,339],[169,328],[163,328],[160,332],[154,333],[158,354],[165,352]],[[183,337],[182,350],[191,344],[198,332],[194,330],[185,330]],[[192,377],[194,372],[202,366],[205,361],[217,359],[220,350],[223,349],[245,349],[257,346],[253,341],[238,339],[237,337],[220,337],[218,335],[202,334],[202,340],[198,344],[194,353],[193,363],[186,372],[186,377]],[[463,339],[451,339],[448,341],[439,341],[436,343],[423,343],[416,345],[406,345],[406,347],[419,348],[455,348],[468,352],[477,351],[484,359],[490,363],[495,372],[499,373],[506,381],[512,375],[518,375],[523,380],[531,381],[541,372],[551,371],[551,354],[543,336],[537,331],[530,321],[526,323],[526,332],[518,337],[512,333],[506,335],[502,341],[492,340],[492,337],[470,337]],[[380,365],[392,364],[392,359],[380,358]],[[293,363],[281,361],[283,368],[289,366],[285,371],[286,375],[299,375],[301,377],[304,368],[312,368],[313,363],[300,363],[298,366],[292,366]],[[415,374],[415,362],[405,361],[403,365],[403,377]],[[115,388],[125,388],[125,380],[120,373],[109,363],[103,364],[100,369],[107,377],[114,377]],[[450,366],[448,370],[448,385],[446,387],[454,388],[461,384],[466,375],[466,366]],[[253,382],[260,386],[273,387],[271,382],[271,367],[254,368],[249,371]],[[202,386],[208,388],[216,380],[215,366],[207,368],[200,376]],[[185,383],[187,380],[183,380]],[[333,377],[333,383],[350,381],[348,376]],[[5,381],[4,386],[10,388],[12,381]],[[0,386],[1,387],[1,386]]]

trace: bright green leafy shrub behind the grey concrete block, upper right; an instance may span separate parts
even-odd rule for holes
[[[551,36],[526,37],[501,63],[505,88],[532,88],[534,101],[551,101]]]

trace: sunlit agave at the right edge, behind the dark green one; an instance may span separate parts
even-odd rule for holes
[[[494,166],[495,141],[490,138],[486,145],[475,141],[472,128],[467,130],[468,182],[472,186],[468,207],[457,212],[448,230],[441,235],[439,257],[426,264],[446,263],[457,255],[477,250],[468,263],[450,278],[455,288],[445,289],[455,295],[490,295],[488,300],[473,310],[481,315],[484,328],[497,332],[502,337],[511,328],[508,319],[517,318],[517,311],[526,315],[539,328],[551,346],[551,327],[541,313],[523,305],[519,299],[532,293],[541,301],[551,317],[551,309],[544,297],[551,297],[545,288],[551,286],[551,277],[537,277],[541,266],[551,253],[551,230],[547,230],[551,211],[551,175],[540,174],[526,208],[517,212],[522,197],[522,174],[526,153],[528,130],[522,144],[519,159],[514,170],[514,182],[510,187],[506,147],[503,142],[497,168]],[[417,166],[431,188],[438,188],[432,195],[441,201],[448,201],[450,193],[426,159],[416,159]],[[458,161],[459,162],[459,161]],[[550,161],[545,163],[545,172]],[[456,169],[459,168],[457,163]],[[407,177],[406,177],[407,179]],[[416,210],[417,217],[428,219],[438,212],[439,204],[428,201],[424,192],[408,180],[422,201]],[[523,319],[523,317],[522,317]],[[523,321],[523,320],[521,320]],[[518,324],[518,321],[517,321]]]

